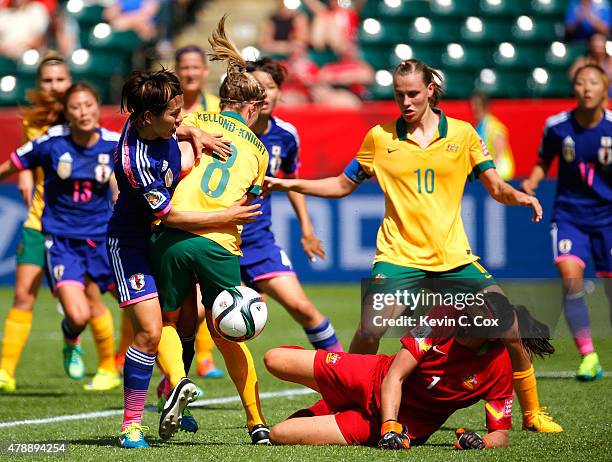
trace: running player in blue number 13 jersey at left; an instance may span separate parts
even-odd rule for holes
[[[62,321],[64,369],[71,378],[82,378],[82,362],[75,359],[81,354],[79,335],[88,323],[105,317],[105,325],[111,328],[97,345],[100,362],[93,385],[103,382],[110,389],[120,379],[113,360],[112,317],[101,292],[113,286],[105,239],[112,189],[116,189],[112,188],[111,153],[119,135],[98,128],[98,95],[90,86],[70,86],[64,106],[67,125],[52,127],[13,152],[0,165],[0,177],[42,167],[46,266],[66,316]]]

